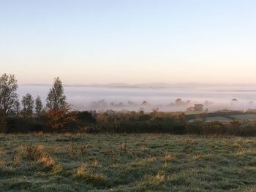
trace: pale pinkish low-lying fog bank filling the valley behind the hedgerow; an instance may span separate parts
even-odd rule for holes
[[[256,108],[256,85],[173,85],[169,87],[64,86],[67,101],[76,110],[186,111],[194,104],[204,110]],[[21,96],[31,93],[45,101],[50,85],[19,85]],[[178,100],[177,100],[178,99]]]

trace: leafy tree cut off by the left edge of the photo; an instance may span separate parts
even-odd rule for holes
[[[3,74],[0,77],[0,114],[9,115],[15,101],[18,99],[16,93],[18,88],[17,80],[13,74]]]

